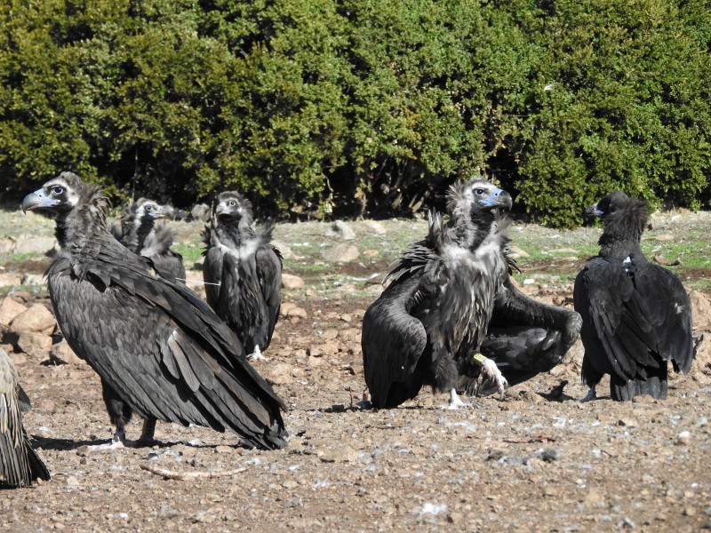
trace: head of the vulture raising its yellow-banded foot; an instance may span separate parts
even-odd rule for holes
[[[511,209],[511,195],[482,178],[457,183],[450,189],[447,209],[452,214],[474,220],[495,218],[501,210]]]

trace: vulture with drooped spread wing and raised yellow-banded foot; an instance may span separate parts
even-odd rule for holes
[[[526,297],[508,277],[511,196],[484,179],[451,187],[449,221],[433,213],[429,235],[403,252],[387,289],[363,316],[365,381],[375,407],[414,398],[423,385],[503,397],[516,382],[549,370],[578,338],[579,315]],[[387,279],[386,278],[386,279]]]

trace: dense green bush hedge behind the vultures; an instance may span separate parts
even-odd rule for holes
[[[555,226],[711,196],[702,0],[7,0],[0,29],[11,194],[387,214],[483,173]]]

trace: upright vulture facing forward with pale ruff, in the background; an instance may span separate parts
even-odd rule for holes
[[[235,330],[247,354],[266,359],[282,305],[282,256],[273,224],[252,228],[252,203],[236,192],[218,195],[205,227],[203,277],[207,302]]]

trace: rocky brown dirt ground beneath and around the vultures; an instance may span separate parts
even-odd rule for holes
[[[51,235],[51,224],[32,226],[11,215],[7,224],[25,225],[32,238]],[[698,223],[709,227],[709,220]],[[283,316],[265,353],[270,360],[255,362],[290,407],[284,418],[292,439],[279,451],[245,449],[232,434],[161,423],[161,446],[90,449],[112,434],[99,378],[57,345],[44,288],[27,284],[38,281],[49,259],[7,262],[0,270],[6,276],[0,281],[0,346],[16,362],[34,402],[25,425],[52,481],[4,490],[0,530],[711,529],[708,341],[699,346],[691,373],[672,379],[666,402],[640,397],[617,403],[603,394],[579,403],[586,388],[579,382],[578,343],[561,365],[510,388],[503,402],[483,398],[477,409],[451,411],[442,409],[445,395],[423,391],[399,409],[361,410],[360,323],[379,292],[373,280],[381,279],[402,248],[389,239],[410,232],[409,241],[415,240],[425,226],[405,220],[351,226],[356,238],[349,241],[325,236],[325,224],[277,227],[286,272],[305,282],[299,287],[299,279],[291,280],[295,288],[284,290]],[[191,235],[199,227],[176,226],[184,243],[196,242]],[[519,230],[547,232],[515,227],[515,239]],[[594,248],[598,234],[565,232],[555,245],[582,239]],[[22,240],[10,239],[13,245]],[[333,249],[348,254],[348,246],[356,248],[350,259],[334,262]],[[573,252],[563,261],[572,275],[585,259]],[[519,262],[524,270],[541,269]],[[200,276],[190,269],[188,277]],[[19,285],[8,288],[12,280]],[[523,286],[536,298],[571,305],[570,276]],[[711,330],[707,297],[695,292],[698,335]],[[20,331],[21,313],[25,322],[35,321],[25,329],[35,331]],[[549,398],[563,380],[563,395]],[[599,390],[606,392],[607,383]],[[140,420],[129,432],[132,438],[140,434]],[[151,469],[188,477],[171,479]]]

